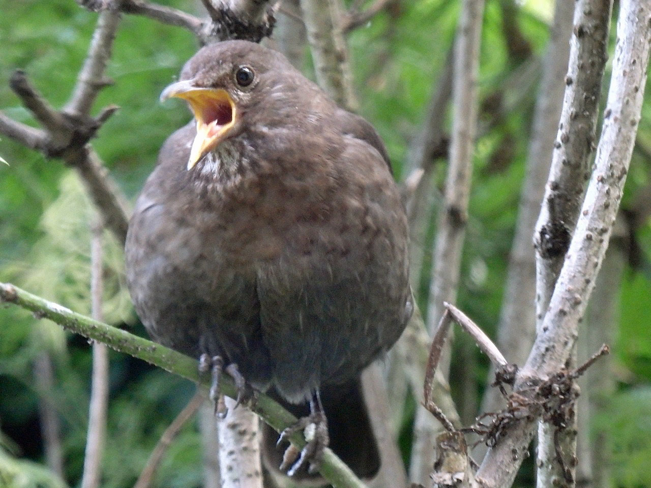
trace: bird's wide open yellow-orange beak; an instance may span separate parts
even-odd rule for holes
[[[200,88],[192,80],[172,83],[161,93],[160,100],[176,97],[187,100],[197,119],[197,137],[192,143],[187,169],[223,141],[235,124],[235,103],[226,90]]]

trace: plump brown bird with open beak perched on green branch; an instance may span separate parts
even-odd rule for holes
[[[318,467],[329,437],[372,476],[359,375],[413,309],[407,222],[380,137],[251,42],[203,47],[169,97],[195,120],[165,142],[129,226],[140,318],[161,344],[207,354],[307,414],[296,428],[317,435],[290,474]],[[281,459],[276,438],[268,459]]]

